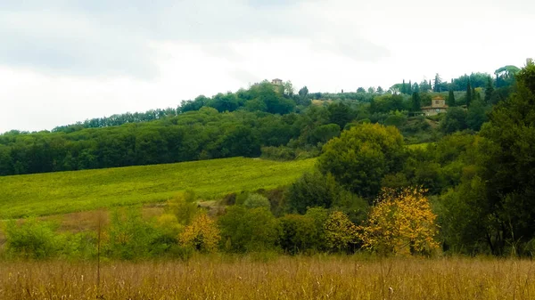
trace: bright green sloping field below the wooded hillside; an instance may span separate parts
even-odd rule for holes
[[[0,177],[0,219],[55,215],[169,199],[192,189],[201,199],[286,185],[315,159],[224,158],[169,165]]]

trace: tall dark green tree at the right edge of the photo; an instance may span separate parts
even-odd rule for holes
[[[535,237],[535,64],[516,75],[516,93],[499,102],[483,126],[477,176],[481,177],[485,212],[494,222],[486,228],[496,254],[506,246],[523,254],[523,245]]]

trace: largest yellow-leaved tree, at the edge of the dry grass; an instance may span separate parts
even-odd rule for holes
[[[383,189],[358,237],[363,247],[383,255],[430,253],[439,247],[435,219],[424,190]]]

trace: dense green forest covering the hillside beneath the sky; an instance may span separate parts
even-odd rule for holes
[[[396,126],[409,144],[437,142],[444,134],[478,131],[491,106],[511,93],[516,72],[507,66],[496,77],[473,73],[449,84],[437,74],[429,83],[335,94],[309,93],[306,86],[294,93],[291,82],[265,81],[236,93],[201,95],[177,109],[95,118],[52,132],[13,130],[0,135],[0,175],[235,156],[309,158],[360,123]],[[437,94],[452,109],[436,118],[418,115]]]

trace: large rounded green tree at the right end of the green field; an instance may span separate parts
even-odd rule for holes
[[[403,153],[403,137],[396,127],[363,124],[327,142],[318,168],[333,174],[346,189],[370,198],[380,190],[383,175],[399,169]]]

